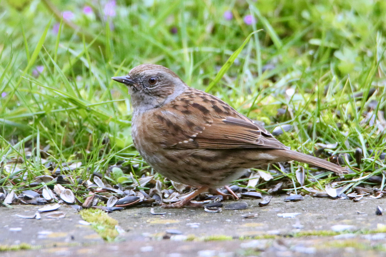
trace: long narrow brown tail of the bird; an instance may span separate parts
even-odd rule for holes
[[[308,163],[311,165],[315,165],[326,170],[334,171],[339,174],[347,174],[349,173],[346,168],[340,167],[334,163],[330,163],[329,161],[325,161],[323,159],[317,158],[311,155],[305,155],[304,153],[299,153],[296,151],[292,151],[289,149],[280,151],[281,156],[284,158],[288,158],[288,160],[300,161],[303,163]]]

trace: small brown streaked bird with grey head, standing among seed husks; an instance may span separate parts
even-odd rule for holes
[[[155,64],[113,77],[129,87],[132,138],[144,160],[167,178],[200,187],[184,200],[227,185],[246,169],[266,163],[301,161],[335,173],[345,168],[289,150],[271,133],[211,94],[186,85],[173,71]]]

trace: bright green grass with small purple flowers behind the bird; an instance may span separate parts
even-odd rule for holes
[[[340,185],[363,183],[351,181],[363,171],[383,176],[384,186],[385,1],[117,0],[116,16],[107,19],[105,2],[94,3],[0,2],[0,186],[28,186],[53,172],[47,161],[63,173],[81,161],[69,173],[78,196],[85,190],[74,178],[105,174],[119,161],[134,178],[152,173],[132,145],[127,89],[110,79],[142,63],[172,69],[269,130],[293,125],[278,136],[291,149],[310,153],[317,143],[337,143],[325,152],[354,158],[361,148],[362,164],[347,163],[357,173]],[[85,5],[93,14],[83,13]],[[62,20],[64,10],[74,18]],[[227,10],[232,20],[223,17]],[[244,23],[250,14],[256,24]],[[229,65],[231,54],[260,29]],[[257,187],[299,186],[295,170]],[[323,188],[335,178],[307,173],[305,184]]]

